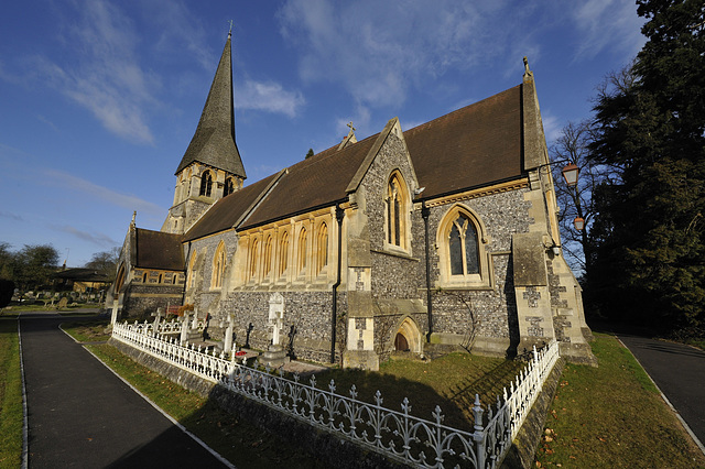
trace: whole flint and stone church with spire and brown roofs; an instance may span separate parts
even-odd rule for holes
[[[230,36],[161,231],[130,223],[115,319],[193,305],[207,335],[378,369],[390,352],[594,363],[561,251],[534,77],[415,127],[389,120],[247,186]]]

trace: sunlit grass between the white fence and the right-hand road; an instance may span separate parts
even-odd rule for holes
[[[536,467],[705,468],[705,456],[629,350],[592,343],[599,368],[566,364]]]

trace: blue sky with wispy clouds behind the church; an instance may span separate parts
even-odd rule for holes
[[[253,183],[347,134],[443,116],[534,72],[549,140],[643,45],[633,1],[26,0],[0,17],[0,241],[68,265],[159,230],[234,21]],[[550,142],[549,142],[550,143]]]

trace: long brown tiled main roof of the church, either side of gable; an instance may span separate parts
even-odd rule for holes
[[[425,187],[419,199],[522,176],[523,89],[519,85],[404,132],[419,185]],[[223,198],[185,240],[230,229],[238,220],[236,228],[245,230],[345,199],[380,134],[343,150],[336,144]],[[261,201],[252,207],[258,197]]]

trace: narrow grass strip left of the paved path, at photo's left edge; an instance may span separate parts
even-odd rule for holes
[[[0,467],[22,458],[22,374],[17,320],[0,320]]]

